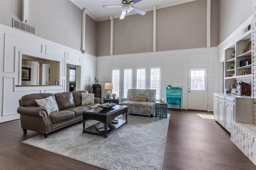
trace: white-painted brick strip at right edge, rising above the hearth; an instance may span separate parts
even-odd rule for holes
[[[252,3],[253,123],[256,125],[256,0]]]

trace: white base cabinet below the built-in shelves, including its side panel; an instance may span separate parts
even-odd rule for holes
[[[214,93],[214,119],[227,131],[231,122],[253,124],[253,98],[235,94]]]

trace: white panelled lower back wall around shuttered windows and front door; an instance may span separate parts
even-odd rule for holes
[[[188,67],[208,67],[208,111],[213,111],[213,92],[218,88],[218,47],[97,57],[96,77],[102,86],[102,96],[107,92],[104,83],[112,81],[113,68],[154,66],[161,67],[160,98],[166,101],[168,84],[180,86],[183,89],[182,109],[187,109]]]

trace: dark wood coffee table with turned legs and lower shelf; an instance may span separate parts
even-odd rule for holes
[[[83,112],[83,132],[90,132],[99,135],[104,135],[104,138],[107,138],[110,133],[115,131],[118,127],[122,126],[124,123],[127,123],[127,108],[128,106],[116,105],[110,109],[102,109],[101,107],[96,107],[94,109],[86,110]],[[124,114],[126,120],[116,119],[118,115]],[[98,131],[95,125],[87,127],[85,129],[86,120],[97,120],[105,124],[105,131]],[[112,120],[118,120],[117,124],[111,123]],[[110,128],[107,130],[107,128]]]

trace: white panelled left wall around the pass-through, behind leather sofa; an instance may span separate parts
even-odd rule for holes
[[[61,86],[16,86],[21,85],[22,54],[59,61]],[[66,91],[67,64],[82,66],[81,83],[77,82],[76,90],[90,92],[96,75],[96,57],[0,24],[0,122],[20,118],[18,100],[26,94]]]

